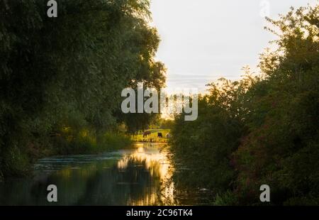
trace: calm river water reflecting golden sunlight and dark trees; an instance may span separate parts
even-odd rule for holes
[[[156,143],[99,155],[44,158],[33,175],[0,183],[0,205],[194,205],[201,190],[177,189],[169,152]],[[58,202],[47,202],[47,186],[57,186]]]

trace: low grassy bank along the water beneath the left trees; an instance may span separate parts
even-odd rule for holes
[[[6,150],[1,160],[6,163],[0,167],[0,181],[6,177],[29,175],[32,164],[39,158],[52,155],[95,154],[108,150],[131,148],[133,141],[123,133],[105,133],[96,137],[89,133],[79,136],[69,136],[62,133],[59,136],[42,138],[40,141],[31,140],[22,147]]]

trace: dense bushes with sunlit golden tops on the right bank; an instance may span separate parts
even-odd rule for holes
[[[278,35],[260,57],[262,73],[245,67],[239,82],[220,79],[201,97],[198,120],[177,116],[175,179],[208,187],[213,204],[319,204],[319,6],[267,20]]]

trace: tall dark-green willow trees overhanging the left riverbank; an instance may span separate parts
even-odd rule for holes
[[[45,0],[0,1],[0,177],[24,171],[35,154],[63,151],[58,143],[103,142],[133,121],[117,113],[121,90],[164,84],[148,8],[147,0],[61,0],[48,18]]]

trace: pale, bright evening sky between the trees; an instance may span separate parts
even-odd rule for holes
[[[151,0],[167,88],[204,92],[220,77],[240,79],[245,65],[258,72],[259,54],[275,39],[264,30],[264,16],[278,18],[308,3],[318,0]]]

